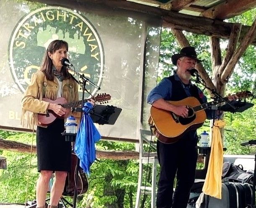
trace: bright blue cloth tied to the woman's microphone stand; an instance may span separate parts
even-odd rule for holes
[[[78,128],[74,147],[74,151],[80,159],[80,166],[88,175],[90,174],[91,164],[96,159],[95,143],[101,138],[99,131],[89,116],[92,108],[93,105],[91,103],[86,102],[84,104],[84,115]]]

